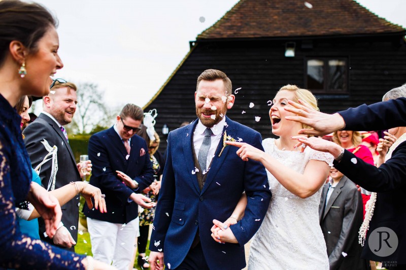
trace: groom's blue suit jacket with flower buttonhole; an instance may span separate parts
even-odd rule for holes
[[[168,268],[176,268],[186,257],[199,230],[200,243],[211,269],[245,267],[244,244],[257,232],[271,198],[265,168],[259,162],[244,162],[228,145],[219,157],[223,140],[217,147],[206,183],[200,190],[194,171],[192,124],[170,132],[162,186],[154,218],[149,249],[164,252]],[[242,138],[261,150],[261,135],[226,117],[227,135]],[[248,204],[245,215],[230,228],[239,244],[219,244],[211,237],[213,219],[229,218],[243,192]]]

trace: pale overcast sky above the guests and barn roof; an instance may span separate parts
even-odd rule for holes
[[[36,2],[59,20],[59,55],[64,68],[56,78],[96,83],[110,105],[131,102],[144,106],[187,54],[189,41],[238,0]],[[406,1],[357,2],[406,28]]]

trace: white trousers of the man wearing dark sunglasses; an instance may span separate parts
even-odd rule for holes
[[[123,226],[87,218],[93,258],[119,270],[128,270],[134,253],[136,238],[140,236],[140,219],[137,217]]]

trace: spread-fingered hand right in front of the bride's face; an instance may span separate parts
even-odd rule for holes
[[[286,120],[300,122],[314,129],[301,129],[298,134],[321,136],[326,135],[336,130],[345,128],[344,119],[339,113],[327,114],[315,110],[308,103],[298,100],[296,103],[289,100],[288,103],[292,106],[286,106],[285,110],[293,112],[297,115],[285,117]]]

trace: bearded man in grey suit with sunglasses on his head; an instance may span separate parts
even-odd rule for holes
[[[42,185],[48,190],[62,187],[71,181],[78,181],[82,176],[63,128],[64,125],[72,122],[76,111],[76,86],[73,83],[59,83],[57,80],[63,82],[60,79],[54,81],[50,93],[43,97],[43,112],[23,132],[33,168],[42,163],[50,151],[50,148],[46,148],[44,139],[50,147],[54,145],[57,147],[56,160],[53,155],[49,155],[47,157],[49,160],[41,165],[40,169]],[[61,208],[61,223],[53,239],[44,235],[45,226],[41,218],[39,219],[40,237],[50,244],[74,251],[74,245],[78,239],[79,196],[77,195]]]

